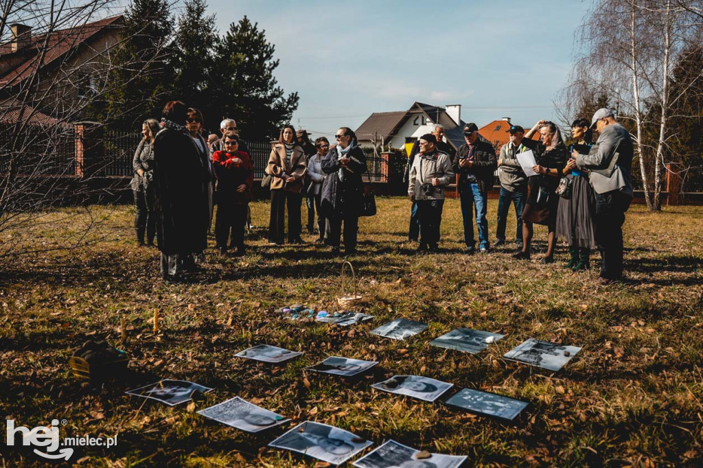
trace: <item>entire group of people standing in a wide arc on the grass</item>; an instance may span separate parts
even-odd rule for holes
[[[600,134],[595,145],[591,141],[594,127]],[[153,245],[157,238],[161,271],[167,280],[199,268],[214,204],[218,206],[214,229],[217,249],[226,254],[233,248],[236,256],[245,255],[254,168],[247,145],[236,131],[236,122],[225,119],[220,130],[221,138],[211,136],[206,142],[200,134],[201,112],[186,108],[180,101],[167,103],[161,122],[143,122],[143,139],[134,155],[131,181],[136,236],[140,245]],[[494,246],[506,242],[505,226],[512,203],[517,219],[515,259],[531,258],[533,225],[537,223],[548,227],[544,263],[553,263],[557,238],[565,238],[570,255],[567,268],[589,268],[591,249],[598,247],[603,259],[602,281],[621,278],[621,226],[633,197],[629,171],[633,145],[612,111],[598,110],[590,123],[576,119],[572,124],[575,142],[569,148],[559,128],[544,120],[527,132],[521,126],[511,126],[510,142],[503,145],[498,157],[493,146],[479,137],[476,124],[466,124],[463,131],[465,144],[456,152],[444,143],[441,126],[413,146],[406,176],[413,202],[409,238],[420,243],[418,251],[439,249],[446,186],[456,176],[466,251],[490,251],[486,208],[498,169],[501,190]],[[539,141],[531,139],[536,132]],[[344,253],[352,254],[356,252],[363,212],[366,156],[348,127],[337,131],[335,145],[325,137],[312,143],[308,135],[307,131],[284,126],[271,149],[265,168],[271,190],[269,243],[282,245],[286,238],[291,244],[303,243],[301,205],[305,198],[307,229],[314,233],[317,227],[316,242],[340,252],[343,240]],[[531,176],[527,176],[518,156],[527,151],[536,161]]]

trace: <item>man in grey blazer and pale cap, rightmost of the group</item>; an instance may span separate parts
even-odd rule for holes
[[[595,240],[602,256],[600,280],[610,284],[622,278],[622,225],[633,197],[633,144],[629,132],[610,109],[598,109],[591,119],[600,136],[588,155],[574,151],[576,166],[591,171],[595,192]]]

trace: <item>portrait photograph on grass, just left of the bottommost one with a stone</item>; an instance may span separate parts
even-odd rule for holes
[[[337,427],[306,421],[269,443],[270,447],[302,453],[331,464],[342,464],[364,448],[370,441]]]

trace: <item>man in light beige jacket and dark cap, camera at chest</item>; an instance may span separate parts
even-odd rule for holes
[[[454,173],[446,152],[437,150],[437,137],[420,137],[420,153],[415,157],[408,174],[408,196],[418,206],[420,214],[420,247],[439,250],[439,225],[444,207],[444,187],[451,183]]]

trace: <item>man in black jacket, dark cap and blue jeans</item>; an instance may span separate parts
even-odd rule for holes
[[[476,209],[476,224],[479,230],[479,251],[487,253],[491,248],[488,240],[488,190],[493,186],[496,171],[496,151],[491,143],[479,139],[479,128],[474,123],[464,126],[464,145],[456,152],[453,171],[459,174],[457,183],[461,200],[461,216],[464,220],[464,242],[466,252],[476,252],[474,240],[473,209]]]

